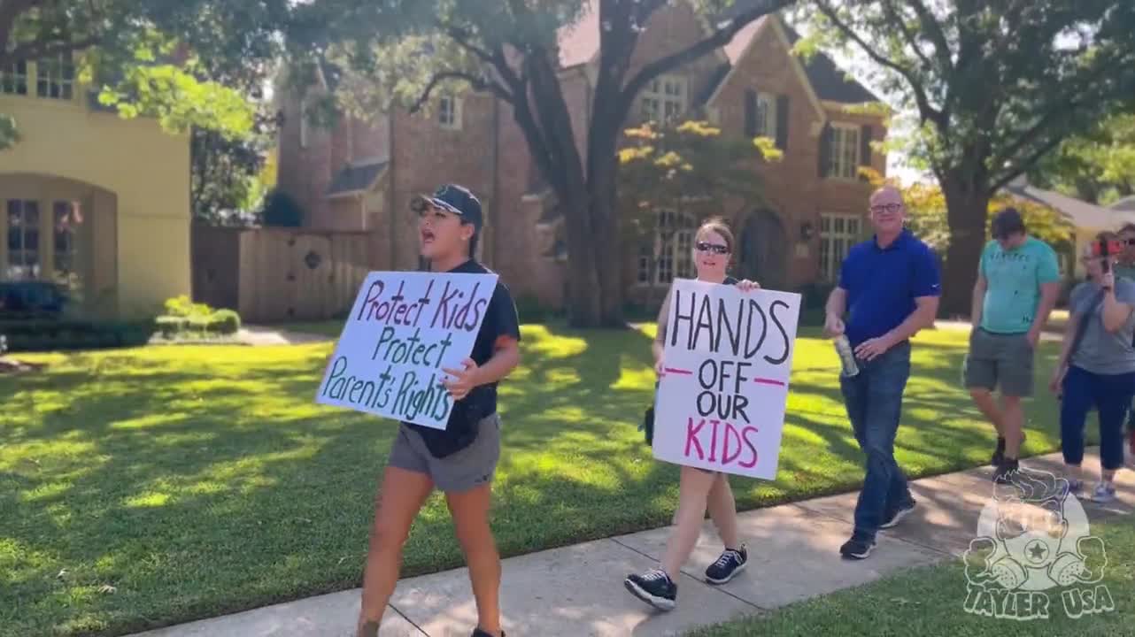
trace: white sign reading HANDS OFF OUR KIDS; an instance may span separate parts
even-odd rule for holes
[[[800,295],[676,279],[654,457],[776,478]]]

